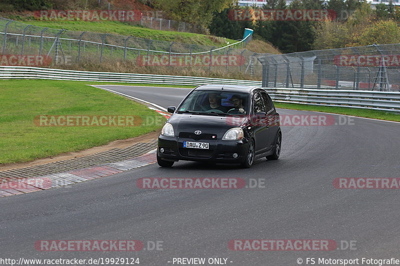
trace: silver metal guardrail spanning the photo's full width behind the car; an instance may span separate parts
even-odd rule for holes
[[[133,73],[87,72],[38,67],[0,66],[0,79],[54,79],[170,85],[231,84],[261,87],[261,81]],[[400,92],[264,88],[275,102],[400,112]]]

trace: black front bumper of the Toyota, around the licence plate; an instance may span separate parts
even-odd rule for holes
[[[183,148],[183,141],[207,142],[209,149],[191,149]],[[197,161],[197,162],[215,162],[215,163],[242,163],[245,160],[247,151],[247,139],[242,140],[193,140],[181,137],[158,137],[157,154],[163,160],[168,161]],[[160,148],[164,152],[160,152]],[[233,153],[238,155],[233,158]]]

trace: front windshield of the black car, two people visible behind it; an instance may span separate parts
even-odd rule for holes
[[[207,115],[247,114],[247,93],[221,90],[195,90],[180,104],[179,113]]]

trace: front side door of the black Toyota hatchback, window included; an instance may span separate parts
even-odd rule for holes
[[[267,123],[264,123],[265,116],[259,117],[256,115],[258,112],[265,113],[264,102],[259,90],[254,92],[252,102],[251,124],[255,139],[255,153],[262,153],[268,149],[269,130]]]

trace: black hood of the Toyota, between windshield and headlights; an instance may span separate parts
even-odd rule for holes
[[[226,130],[240,126],[244,120],[245,117],[175,113],[169,118],[168,123],[173,126],[175,136],[180,132],[194,133],[200,130],[201,134],[216,134],[217,139],[221,139]]]

